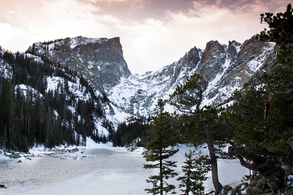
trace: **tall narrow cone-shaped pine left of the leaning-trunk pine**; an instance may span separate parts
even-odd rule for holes
[[[178,152],[178,149],[173,147],[169,148],[174,133],[171,131],[170,120],[171,116],[169,113],[164,112],[164,106],[166,102],[162,99],[158,100],[157,110],[158,118],[153,121],[153,129],[151,130],[150,141],[146,144],[146,149],[150,151],[146,157],[148,162],[156,162],[151,164],[144,164],[146,169],[159,169],[158,175],[152,175],[146,180],[148,183],[153,184],[153,188],[144,189],[151,194],[160,194],[163,192],[175,194],[175,185],[168,184],[169,178],[178,175],[172,167],[176,167],[176,162],[167,160]]]

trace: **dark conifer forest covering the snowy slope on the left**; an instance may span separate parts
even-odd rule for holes
[[[86,145],[86,137],[107,142],[95,122],[104,120],[104,93],[97,97],[83,76],[41,54],[42,60],[0,47],[0,148],[28,151],[44,145]],[[8,66],[4,67],[4,64]],[[9,75],[7,75],[9,72]],[[56,89],[47,89],[47,79],[61,78]],[[79,90],[88,99],[77,98],[69,90]],[[27,89],[20,88],[25,85]],[[101,123],[102,125],[104,123]],[[106,125],[106,124],[105,124]],[[110,128],[108,124],[107,128]]]

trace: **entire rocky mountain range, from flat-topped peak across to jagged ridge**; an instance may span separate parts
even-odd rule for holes
[[[243,44],[210,41],[204,50],[193,47],[177,62],[143,76],[134,76],[128,70],[119,37],[65,38],[35,44],[34,50],[78,71],[122,110],[150,115],[158,98],[168,99],[176,86],[184,84],[193,73],[209,80],[202,105],[221,106],[229,102],[235,89],[257,81],[257,76],[274,66],[277,49],[274,43],[254,37]],[[166,109],[172,111],[170,106]]]

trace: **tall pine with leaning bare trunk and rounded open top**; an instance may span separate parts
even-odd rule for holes
[[[215,194],[221,194],[223,186],[218,178],[217,158],[222,155],[219,147],[223,147],[225,125],[217,109],[211,106],[199,109],[206,88],[207,80],[194,74],[184,85],[177,86],[168,102],[178,111],[174,113],[174,126],[180,141],[192,142],[194,145],[207,144]]]

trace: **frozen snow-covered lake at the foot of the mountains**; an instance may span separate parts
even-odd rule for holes
[[[190,149],[194,150],[180,147],[171,159],[178,161],[179,174],[184,153]],[[144,189],[151,184],[145,180],[158,170],[144,169],[146,161],[141,153],[113,147],[79,148],[76,153],[31,157],[22,163],[17,163],[18,159],[1,160],[0,184],[9,188],[0,188],[0,194],[147,194]],[[236,186],[244,174],[249,174],[237,160],[220,161],[218,166],[223,185]],[[175,178],[170,183],[178,185]],[[213,188],[211,179],[205,185],[207,190]]]

